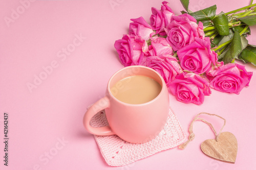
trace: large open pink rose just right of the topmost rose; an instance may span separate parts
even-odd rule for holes
[[[197,20],[188,14],[173,16],[164,30],[174,51],[194,42],[195,37],[204,39],[203,23],[197,25]]]

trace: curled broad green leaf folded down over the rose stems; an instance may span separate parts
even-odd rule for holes
[[[212,21],[214,22],[215,28],[220,35],[229,34],[228,18],[226,15],[219,15],[215,17]]]

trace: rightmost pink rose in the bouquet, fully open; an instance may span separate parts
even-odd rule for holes
[[[251,76],[252,72],[247,72],[245,66],[229,63],[210,70],[207,78],[210,81],[211,88],[222,92],[239,94],[245,86],[249,86]]]

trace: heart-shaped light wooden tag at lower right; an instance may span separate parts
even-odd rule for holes
[[[234,163],[238,153],[238,141],[230,132],[222,132],[216,139],[207,139],[201,143],[203,153],[211,158]]]

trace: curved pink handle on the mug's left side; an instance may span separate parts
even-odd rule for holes
[[[100,136],[107,136],[107,135],[114,135],[115,133],[111,130],[110,126],[104,126],[100,128],[95,128],[90,125],[91,118],[98,113],[99,111],[110,107],[110,101],[109,99],[104,96],[104,98],[98,100],[96,103],[94,103],[84,114],[83,116],[83,126],[86,128],[88,132],[94,135],[100,135]]]

